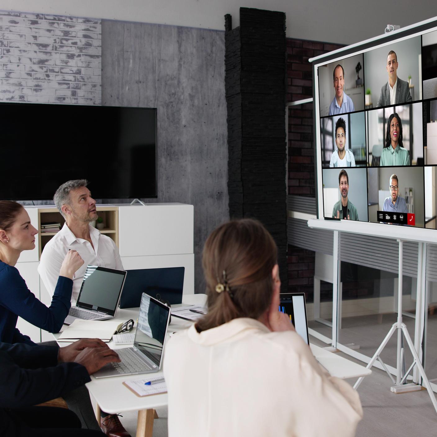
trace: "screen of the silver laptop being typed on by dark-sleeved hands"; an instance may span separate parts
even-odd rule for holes
[[[170,307],[143,293],[134,347],[160,364],[169,322]],[[152,357],[150,356],[152,354]]]

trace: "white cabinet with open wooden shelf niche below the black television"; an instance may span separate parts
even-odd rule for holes
[[[32,225],[40,228],[42,221],[58,220],[53,206],[29,206],[25,208]],[[114,219],[108,215],[114,212]],[[118,243],[121,261],[125,269],[146,269],[160,267],[185,267],[184,295],[194,294],[194,207],[182,203],[155,203],[143,205],[99,205],[97,212],[106,214],[106,226],[113,232]],[[51,217],[50,215],[54,215]],[[59,216],[60,217],[60,216]],[[117,219],[118,218],[118,219]],[[43,236],[46,243],[51,236]],[[35,249],[21,253],[16,265],[28,288],[45,305],[50,306],[52,298],[38,275],[39,243]],[[43,245],[44,246],[44,245]],[[18,329],[35,342],[53,340],[46,331],[18,319]]]

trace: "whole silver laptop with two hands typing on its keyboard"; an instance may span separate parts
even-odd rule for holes
[[[94,378],[159,371],[169,321],[170,307],[143,293],[133,347],[117,349],[121,363],[106,364]]]

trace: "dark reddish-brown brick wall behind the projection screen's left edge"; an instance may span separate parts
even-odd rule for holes
[[[287,39],[287,101],[312,97],[312,64],[308,59],[341,45]],[[288,194],[316,197],[313,104],[288,109]],[[288,245],[288,291],[313,298],[315,253]],[[332,299],[332,284],[320,284],[321,300]]]

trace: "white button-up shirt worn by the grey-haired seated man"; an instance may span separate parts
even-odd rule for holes
[[[55,292],[62,261],[70,249],[77,250],[85,261],[83,266],[76,271],[75,277],[73,277],[72,305],[76,304],[83,281],[83,274],[88,264],[123,270],[120,254],[114,241],[108,236],[102,235],[98,229],[92,226],[90,226],[90,237],[94,249],[89,241],[76,238],[65,223],[62,229],[44,246],[38,266],[38,273],[50,296],[53,296]]]

